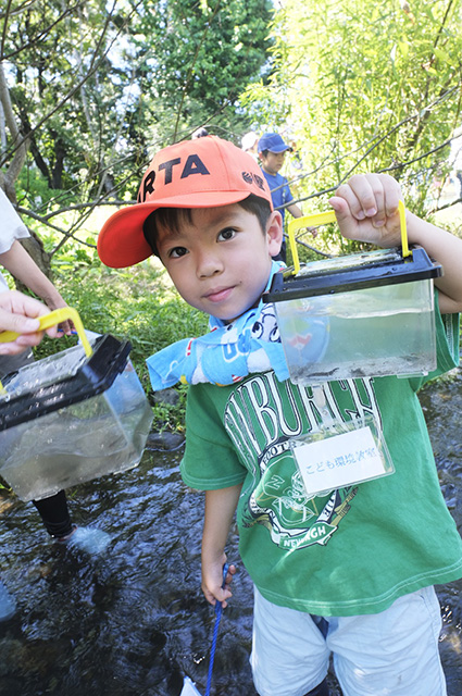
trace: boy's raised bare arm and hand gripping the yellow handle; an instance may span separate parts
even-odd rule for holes
[[[340,186],[329,200],[347,239],[379,247],[401,244],[398,201],[401,189],[388,174],[360,174]],[[408,239],[438,261],[444,276],[435,279],[441,313],[462,311],[462,239],[407,210]]]

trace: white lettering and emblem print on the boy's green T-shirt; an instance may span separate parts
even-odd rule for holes
[[[373,378],[323,385],[330,415],[342,421],[372,414],[380,422]],[[335,385],[335,386],[334,386]],[[326,545],[353,505],[358,485],[310,496],[289,439],[320,430],[323,415],[310,387],[278,383],[273,373],[247,380],[230,396],[225,427],[253,481],[242,489],[244,526],[261,524],[280,548]]]

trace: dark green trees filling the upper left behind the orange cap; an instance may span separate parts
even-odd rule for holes
[[[271,0],[12,0],[0,62],[28,136],[18,198],[41,215],[75,200],[135,199],[153,149],[207,122],[240,133],[238,96],[267,73],[272,14]],[[8,135],[0,167],[17,146]]]

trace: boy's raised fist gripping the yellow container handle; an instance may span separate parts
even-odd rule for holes
[[[357,174],[329,199],[346,239],[379,247],[401,243],[398,201],[401,189],[388,174]]]

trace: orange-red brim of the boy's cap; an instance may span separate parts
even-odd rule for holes
[[[98,236],[98,256],[111,269],[125,269],[152,256],[145,239],[142,225],[158,208],[217,208],[238,203],[251,191],[205,191],[171,196],[152,202],[135,203],[121,208],[103,224]]]

